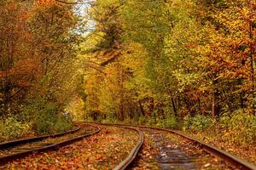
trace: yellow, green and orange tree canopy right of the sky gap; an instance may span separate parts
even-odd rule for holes
[[[255,4],[96,1],[84,43],[85,111],[120,120],[253,114]]]

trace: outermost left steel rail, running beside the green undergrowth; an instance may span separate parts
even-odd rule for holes
[[[8,148],[14,147],[14,146],[19,145],[19,144],[27,144],[27,143],[47,139],[47,138],[60,137],[60,136],[66,135],[68,133],[75,133],[79,130],[80,130],[80,127],[76,127],[75,129],[69,130],[69,131],[64,132],[64,133],[48,134],[48,135],[42,135],[42,136],[32,137],[32,138],[28,138],[28,139],[17,139],[17,140],[3,142],[3,143],[0,143],[0,150],[8,149]]]

